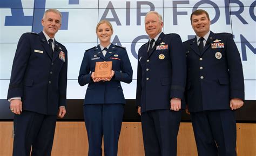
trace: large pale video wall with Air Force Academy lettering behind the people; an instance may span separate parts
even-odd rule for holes
[[[158,11],[164,18],[164,33],[178,33],[185,41],[194,37],[190,24],[192,11],[204,9],[212,19],[213,32],[233,33],[244,69],[245,103],[249,103],[250,108],[256,108],[255,4],[254,0],[2,0],[0,1],[0,119],[12,118],[10,113],[6,114],[9,105],[5,99],[18,39],[24,32],[42,31],[41,19],[45,9],[49,8],[56,8],[63,13],[62,29],[57,33],[56,40],[63,43],[69,51],[69,104],[79,103],[82,109],[80,103],[84,98],[86,86],[79,86],[77,77],[84,51],[98,44],[95,28],[100,19],[111,21],[114,29],[111,41],[125,46],[129,54],[133,67],[133,81],[131,84],[123,83],[122,86],[125,98],[134,105],[137,53],[140,46],[148,40],[144,30],[146,12]],[[73,108],[75,107],[71,107],[71,110]]]

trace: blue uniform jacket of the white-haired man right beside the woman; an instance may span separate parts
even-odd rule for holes
[[[171,98],[185,108],[186,57],[180,36],[160,34],[152,50],[149,42],[138,53],[136,105],[141,111],[170,109]]]

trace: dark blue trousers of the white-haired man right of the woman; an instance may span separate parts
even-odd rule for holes
[[[145,156],[176,156],[181,111],[153,110],[142,113]]]

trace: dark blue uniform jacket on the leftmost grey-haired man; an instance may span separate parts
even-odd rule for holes
[[[26,111],[56,115],[66,106],[68,51],[55,40],[53,56],[44,33],[24,33],[12,65],[8,99],[22,98]]]

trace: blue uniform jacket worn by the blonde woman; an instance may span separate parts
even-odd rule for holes
[[[93,82],[91,73],[95,71],[96,62],[112,61],[114,76],[109,82]],[[132,66],[125,48],[111,44],[103,56],[100,46],[86,50],[80,67],[78,83],[88,84],[84,105],[86,104],[125,104],[120,82],[132,82]]]

